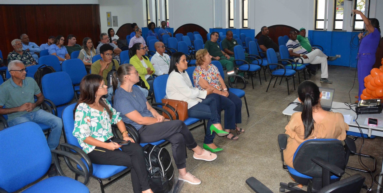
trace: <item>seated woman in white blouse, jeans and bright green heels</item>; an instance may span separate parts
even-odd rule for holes
[[[216,132],[219,136],[227,135],[221,126],[221,101],[213,89],[201,91],[193,88],[188,73],[186,56],[182,52],[172,55],[169,66],[169,78],[166,83],[166,96],[168,99],[188,102],[189,117],[208,119],[203,148],[211,151],[222,151],[213,139]]]

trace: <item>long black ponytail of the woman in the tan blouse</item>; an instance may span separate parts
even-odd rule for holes
[[[313,81],[303,81],[298,86],[298,97],[303,102],[302,122],[304,126],[304,139],[308,138],[314,130],[313,108],[319,104],[319,87]]]

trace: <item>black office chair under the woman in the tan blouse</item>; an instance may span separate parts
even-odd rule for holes
[[[293,157],[294,168],[287,168],[289,175],[297,183],[280,183],[280,191],[301,190],[295,187],[298,184],[307,185],[310,193],[318,192],[323,187],[337,182],[344,174],[349,156],[356,151],[355,142],[346,138],[345,146],[337,139],[309,139],[296,149]],[[287,135],[278,135],[278,143],[283,159],[283,150],[286,149]]]

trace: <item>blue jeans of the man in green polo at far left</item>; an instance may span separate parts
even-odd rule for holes
[[[59,117],[56,117],[45,110],[38,110],[35,112],[28,112],[25,115],[14,118],[8,121],[8,125],[11,127],[24,122],[35,122],[43,123],[51,128],[51,133],[48,136],[48,146],[49,149],[56,149],[60,143],[61,130],[62,130],[62,120]],[[28,135],[28,134],[27,134]]]

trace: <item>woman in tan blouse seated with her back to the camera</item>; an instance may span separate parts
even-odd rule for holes
[[[323,110],[321,107],[322,93],[313,81],[303,81],[298,86],[298,100],[304,104],[302,112],[291,115],[286,125],[286,149],[283,151],[285,163],[293,167],[293,156],[298,146],[308,139],[339,139],[346,138],[349,125],[344,122],[341,113]]]

